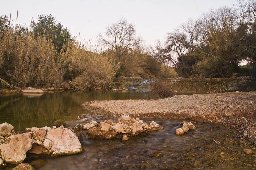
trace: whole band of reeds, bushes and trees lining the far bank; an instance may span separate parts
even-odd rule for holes
[[[93,90],[113,76],[230,77],[249,69],[256,77],[255,4],[241,0],[232,8],[209,10],[148,48],[124,18],[99,34],[102,47],[92,50],[51,15],[38,15],[30,28],[0,15],[1,86]],[[248,65],[239,66],[244,60]]]

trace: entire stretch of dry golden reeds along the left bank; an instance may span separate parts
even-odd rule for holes
[[[43,36],[10,29],[0,37],[0,77],[17,87],[59,88],[65,80],[73,88],[104,88],[113,77],[113,61],[85,45],[68,43],[60,53]]]

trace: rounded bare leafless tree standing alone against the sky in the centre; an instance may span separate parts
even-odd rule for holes
[[[128,23],[124,18],[120,18],[117,23],[107,26],[106,29],[104,34],[98,35],[98,42],[114,49],[117,61],[121,61],[124,54],[127,54],[129,50],[134,50],[143,42],[141,36],[136,36],[135,25]]]

